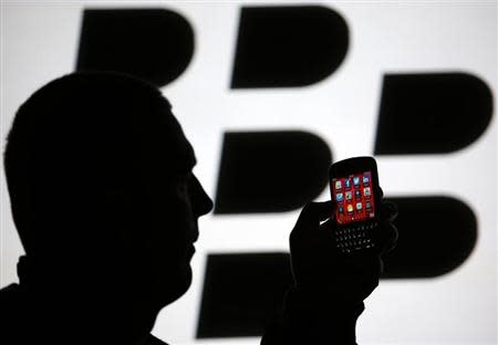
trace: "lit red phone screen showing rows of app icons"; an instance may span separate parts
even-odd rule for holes
[[[335,219],[339,224],[375,218],[373,187],[372,171],[332,179],[331,190],[338,206]]]

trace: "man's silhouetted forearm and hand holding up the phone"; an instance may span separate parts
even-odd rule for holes
[[[279,316],[268,325],[262,345],[355,344],[356,318],[378,284],[381,254],[394,248],[396,207],[383,202],[377,251],[343,255],[335,247],[333,202],[308,203],[290,234],[293,285]]]

